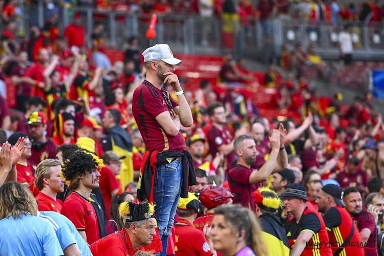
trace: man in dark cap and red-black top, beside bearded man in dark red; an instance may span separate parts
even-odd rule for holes
[[[325,185],[316,203],[322,212],[333,254],[364,255],[361,237],[342,200],[343,189],[334,184]],[[347,246],[350,244],[351,246]],[[345,248],[343,248],[345,247]]]

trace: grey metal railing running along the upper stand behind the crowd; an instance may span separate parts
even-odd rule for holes
[[[23,2],[23,1],[20,1]],[[87,31],[87,45],[91,47],[91,34],[95,22],[104,24],[104,42],[117,49],[122,49],[126,39],[137,35],[142,48],[148,45],[145,32],[149,26],[150,16],[143,14],[118,14],[114,11],[100,12],[93,8],[70,7],[63,5],[59,11],[59,29],[62,33],[73,19],[76,12],[81,14],[83,26]],[[31,24],[39,27],[49,18],[42,1],[37,4],[20,4],[20,26],[28,33]],[[97,17],[102,16],[102,17]],[[229,32],[228,32],[228,22]],[[338,57],[338,29],[327,24],[313,26],[300,20],[270,20],[271,33],[268,35],[266,24],[255,21],[242,26],[238,20],[224,20],[216,17],[203,18],[196,14],[171,14],[158,16],[156,38],[152,41],[166,42],[175,51],[187,54],[223,54],[248,56],[264,61],[280,55],[282,46],[293,47],[300,42],[307,47],[313,44],[316,52],[327,59]],[[230,32],[232,30],[232,32]],[[20,34],[22,35],[22,34]],[[354,59],[384,59],[384,30],[381,24],[353,24]]]

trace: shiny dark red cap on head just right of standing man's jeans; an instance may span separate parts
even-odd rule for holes
[[[208,209],[218,207],[222,204],[229,203],[232,194],[225,187],[208,185],[200,194],[201,203]]]

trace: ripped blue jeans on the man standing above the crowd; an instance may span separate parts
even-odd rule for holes
[[[168,237],[175,221],[179,204],[183,164],[179,160],[157,167],[154,180],[154,201],[157,227],[163,244],[160,256],[166,255]]]

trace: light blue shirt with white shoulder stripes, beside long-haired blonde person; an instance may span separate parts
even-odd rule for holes
[[[63,251],[71,244],[77,244],[81,255],[92,256],[88,244],[67,217],[54,211],[40,211],[38,216],[51,224]]]

